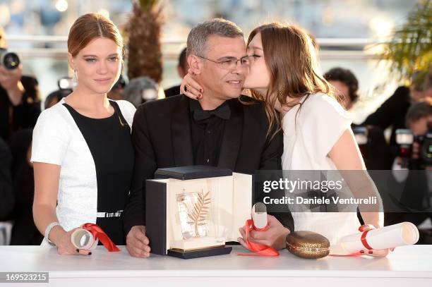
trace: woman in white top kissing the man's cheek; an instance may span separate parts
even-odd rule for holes
[[[251,62],[244,87],[251,89],[252,97],[265,104],[270,127],[283,129],[282,169],[365,170],[350,127],[352,121],[331,96],[330,84],[318,72],[317,52],[311,37],[294,25],[261,25],[248,37],[247,53]],[[182,84],[183,90],[187,85],[188,97],[200,99],[201,87],[189,75]],[[368,179],[366,175],[360,178]],[[352,183],[357,186],[349,185],[349,188],[361,190],[363,196],[366,193],[376,196],[380,202],[371,181]],[[383,226],[383,214],[378,208],[377,212],[361,212],[365,224]],[[344,235],[358,232],[360,226],[356,212],[293,212],[293,217],[296,230],[316,231],[332,244]],[[284,248],[284,236],[289,231],[273,224],[274,220],[269,217],[269,230],[252,233],[251,237],[255,237],[252,240]],[[241,234],[244,238],[244,229]],[[243,238],[239,242],[244,245]],[[386,252],[379,250],[378,254]]]

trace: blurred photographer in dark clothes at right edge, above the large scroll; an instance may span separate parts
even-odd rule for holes
[[[385,214],[387,224],[410,221],[419,226],[431,218],[432,207],[432,103],[412,104],[407,111],[409,129],[396,130],[398,154],[392,166],[392,195],[402,212]],[[423,225],[423,224],[422,224]],[[432,229],[419,228],[419,244],[432,243]]]

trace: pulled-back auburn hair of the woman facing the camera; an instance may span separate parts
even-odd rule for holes
[[[73,23],[68,35],[68,51],[76,56],[81,49],[96,38],[112,39],[124,54],[123,39],[119,29],[111,20],[98,13],[88,13],[80,16]]]

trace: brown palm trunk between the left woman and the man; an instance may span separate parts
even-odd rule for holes
[[[160,0],[133,1],[133,11],[126,24],[128,42],[128,78],[148,76],[162,80],[160,34],[164,18]]]

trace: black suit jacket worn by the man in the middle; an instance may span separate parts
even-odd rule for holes
[[[263,106],[250,97],[241,99],[248,104],[228,100],[231,118],[224,127],[217,166],[250,174],[258,169],[282,169],[282,133],[269,140]],[[180,94],[147,102],[136,111],[132,126],[135,166],[123,214],[125,234],[132,226],[145,225],[145,180],[153,178],[156,169],[194,164],[189,100]],[[294,231],[290,213],[273,215]]]

